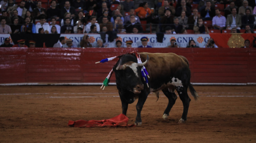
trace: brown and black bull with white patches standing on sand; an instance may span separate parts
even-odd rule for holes
[[[122,102],[122,113],[126,115],[128,104],[138,99],[135,125],[141,126],[141,110],[149,93],[155,92],[159,97],[159,91],[162,90],[169,101],[163,114],[163,119],[167,120],[177,99],[174,92],[176,89],[183,103],[183,113],[178,123],[185,122],[191,101],[187,93],[188,88],[195,100],[199,98],[190,83],[191,72],[188,60],[174,53],[140,53],[140,56],[142,63],[138,63],[135,55],[127,54],[113,67]],[[142,66],[145,66],[149,73],[149,88],[143,84],[144,80],[140,72]]]

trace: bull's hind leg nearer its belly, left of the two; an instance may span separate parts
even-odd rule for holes
[[[169,116],[169,112],[172,109],[173,105],[175,104],[175,101],[177,99],[177,96],[174,92],[170,92],[168,88],[162,90],[166,97],[168,98],[169,102],[166,107],[166,110],[164,111],[163,119],[166,120]]]

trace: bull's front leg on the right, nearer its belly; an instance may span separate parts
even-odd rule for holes
[[[146,99],[147,99],[147,95],[142,95],[138,99],[138,103],[136,105],[137,116],[136,116],[136,121],[135,121],[135,125],[137,125],[137,126],[141,126],[141,124],[142,124],[142,121],[141,121],[141,110],[142,110],[142,107],[143,107]]]

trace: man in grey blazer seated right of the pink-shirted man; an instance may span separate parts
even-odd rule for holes
[[[233,21],[235,20],[235,21]],[[236,14],[236,8],[232,9],[232,14],[228,15],[227,17],[227,29],[231,29],[235,27],[236,29],[240,29],[242,22],[241,22],[241,15]]]

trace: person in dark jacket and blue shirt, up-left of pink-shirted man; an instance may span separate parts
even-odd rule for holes
[[[211,1],[206,1],[206,6],[203,6],[200,11],[201,16],[204,21],[211,21],[212,18],[215,16],[215,10],[213,7],[211,7]]]

